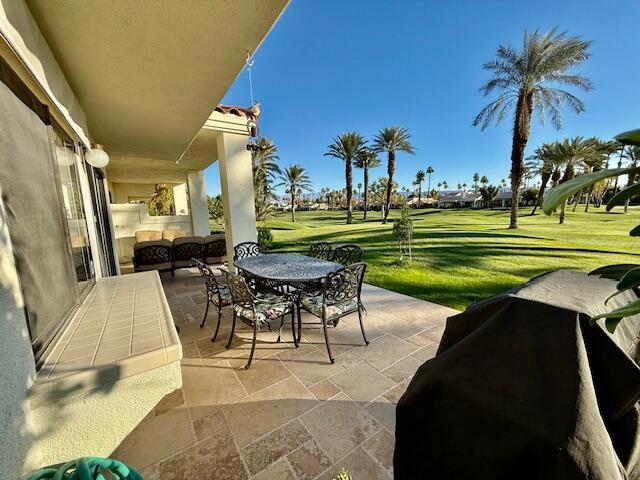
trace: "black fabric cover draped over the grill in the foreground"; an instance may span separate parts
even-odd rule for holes
[[[398,403],[395,478],[639,479],[640,316],[589,325],[614,291],[560,270],[449,318]]]

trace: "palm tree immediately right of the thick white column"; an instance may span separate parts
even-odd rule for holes
[[[278,147],[270,138],[259,137],[251,150],[253,190],[255,193],[256,220],[264,220],[271,214],[273,180],[281,173],[276,163]]]

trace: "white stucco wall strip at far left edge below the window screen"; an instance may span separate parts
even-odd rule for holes
[[[0,478],[18,478],[33,441],[28,391],[35,361],[0,190]]]

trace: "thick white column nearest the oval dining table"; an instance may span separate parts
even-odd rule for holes
[[[234,245],[257,241],[253,171],[246,135],[221,132],[218,135],[218,162],[227,258],[231,264]]]

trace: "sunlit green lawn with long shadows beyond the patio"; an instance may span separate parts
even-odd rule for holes
[[[584,206],[582,206],[584,208]],[[528,213],[530,209],[522,213]],[[392,212],[397,215],[398,212]],[[353,242],[364,249],[368,283],[457,309],[558,268],[584,271],[611,263],[640,263],[638,240],[628,232],[640,223],[640,209],[607,214],[522,216],[518,230],[508,230],[508,212],[493,210],[414,211],[414,263],[394,265],[396,245],[391,225],[382,225],[380,212],[345,225],[345,212],[278,214],[264,222],[272,228],[274,250],[304,252],[310,242]]]

